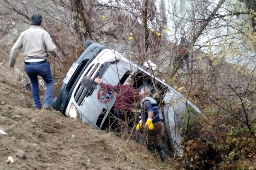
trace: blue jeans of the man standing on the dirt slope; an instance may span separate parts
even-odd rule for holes
[[[24,65],[25,71],[31,81],[32,96],[34,99],[35,107],[41,108],[41,101],[39,96],[38,79],[37,76],[41,76],[46,83],[46,90],[44,96],[44,106],[50,106],[52,102],[53,93],[53,78],[50,69],[50,64],[38,64],[38,65]]]

